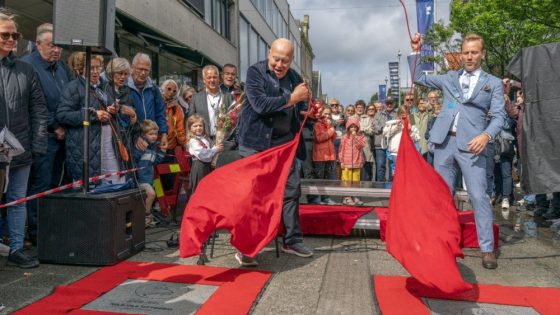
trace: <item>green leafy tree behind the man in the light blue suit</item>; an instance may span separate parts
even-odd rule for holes
[[[449,26],[434,25],[426,42],[440,53],[460,50],[454,33],[461,37],[469,33],[482,36],[486,48],[483,67],[503,77],[511,58],[521,48],[560,39],[560,1],[453,0]],[[443,60],[439,58],[436,62],[441,66]]]

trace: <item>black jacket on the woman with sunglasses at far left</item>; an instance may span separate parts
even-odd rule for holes
[[[8,127],[25,149],[10,167],[30,165],[32,153],[47,153],[47,120],[47,105],[33,67],[10,53],[0,61],[0,129]]]

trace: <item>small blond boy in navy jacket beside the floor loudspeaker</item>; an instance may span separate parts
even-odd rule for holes
[[[146,227],[155,225],[151,213],[152,204],[156,198],[154,191],[154,166],[161,163],[165,157],[166,148],[157,148],[159,127],[153,120],[146,119],[140,125],[142,138],[148,143],[145,150],[134,149],[134,161],[137,167],[144,167],[138,170],[138,186],[146,192]]]

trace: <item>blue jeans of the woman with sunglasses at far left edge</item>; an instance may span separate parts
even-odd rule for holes
[[[31,165],[10,168],[8,190],[6,191],[6,202],[25,197],[27,193],[27,179]],[[50,176],[49,176],[50,178]],[[10,253],[23,248],[23,238],[25,234],[25,202],[11,207],[7,210],[7,227],[10,236]],[[0,218],[0,235],[3,235],[2,227],[5,220]]]

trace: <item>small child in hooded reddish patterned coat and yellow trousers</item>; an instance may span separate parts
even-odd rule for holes
[[[346,133],[340,141],[338,160],[342,167],[342,182],[359,182],[360,170],[364,165],[362,148],[366,145],[366,139],[360,132],[360,122],[355,116],[346,121]],[[342,203],[345,205],[363,205],[358,197],[344,197]]]

